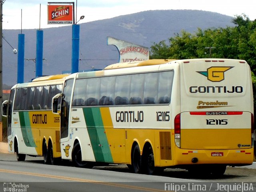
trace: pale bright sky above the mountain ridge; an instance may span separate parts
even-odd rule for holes
[[[3,29],[44,29],[64,25],[47,24],[48,2],[77,2],[78,24],[146,10],[204,10],[256,19],[255,0],[3,0]],[[41,11],[40,11],[41,4]],[[40,14],[41,12],[41,14]],[[21,14],[22,13],[22,14]],[[22,17],[21,17],[22,16]],[[22,19],[21,19],[22,18]]]

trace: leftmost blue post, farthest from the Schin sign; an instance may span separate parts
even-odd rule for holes
[[[25,34],[18,34],[17,83],[24,83],[24,46],[25,46]]]

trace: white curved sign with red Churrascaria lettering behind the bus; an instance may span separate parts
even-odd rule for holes
[[[108,45],[114,45],[119,52],[119,62],[144,61],[149,59],[149,48],[108,37]]]

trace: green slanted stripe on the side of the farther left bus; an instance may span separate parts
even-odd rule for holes
[[[22,138],[24,140],[24,143],[28,147],[36,147],[36,144],[34,142],[31,126],[30,126],[30,120],[29,120],[29,114],[28,112],[19,112],[20,117],[20,129],[22,133]]]

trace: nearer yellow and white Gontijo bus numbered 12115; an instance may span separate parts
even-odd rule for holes
[[[244,60],[147,60],[72,74],[52,110],[60,114],[62,159],[78,167],[105,162],[135,173],[172,167],[222,175],[227,165],[253,162]]]

